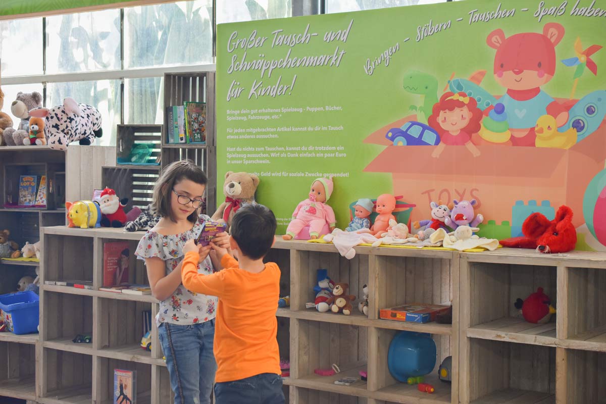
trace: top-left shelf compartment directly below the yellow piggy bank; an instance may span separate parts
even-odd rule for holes
[[[93,280],[92,239],[45,234],[44,250],[45,281]]]

